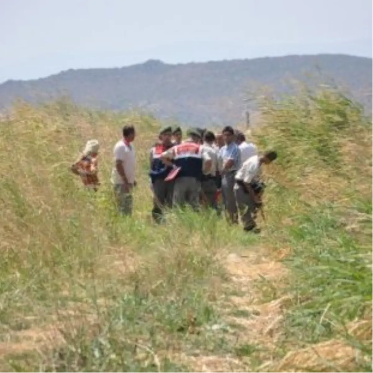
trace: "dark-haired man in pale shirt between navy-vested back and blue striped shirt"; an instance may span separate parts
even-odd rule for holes
[[[217,158],[217,149],[214,148],[215,135],[211,131],[206,131],[203,137],[203,149],[209,154],[211,158],[211,168],[209,172],[204,173],[202,178],[202,195],[204,200],[206,200],[207,205],[212,207],[214,210],[220,214],[217,200],[217,177],[218,177],[218,158]],[[221,184],[221,183],[220,183]]]

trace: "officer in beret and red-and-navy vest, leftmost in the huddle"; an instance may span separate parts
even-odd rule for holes
[[[155,222],[160,223],[163,219],[164,207],[172,207],[173,181],[164,181],[164,178],[172,170],[161,160],[164,151],[172,148],[172,128],[166,127],[160,131],[159,142],[150,150],[150,179],[153,186],[153,210],[151,214]]]

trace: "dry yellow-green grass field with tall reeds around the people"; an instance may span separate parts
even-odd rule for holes
[[[64,101],[0,126],[0,372],[373,372],[373,127],[327,87],[259,100],[260,235],[208,211],[150,220],[147,152],[160,126]],[[132,219],[109,184],[138,132]],[[101,142],[101,190],[69,166]]]

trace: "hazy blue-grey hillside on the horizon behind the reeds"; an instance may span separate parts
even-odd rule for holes
[[[267,57],[168,65],[161,61],[123,68],[68,70],[34,81],[0,85],[0,109],[17,97],[29,102],[68,95],[100,109],[141,108],[156,117],[198,126],[244,120],[244,100],[263,86],[279,94],[290,79],[309,85],[335,81],[371,105],[373,59],[346,55]],[[253,109],[253,103],[248,103]]]

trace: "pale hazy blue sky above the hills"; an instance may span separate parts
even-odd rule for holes
[[[149,59],[373,57],[372,14],[372,0],[1,0],[0,82]]]

